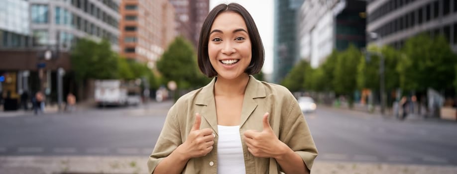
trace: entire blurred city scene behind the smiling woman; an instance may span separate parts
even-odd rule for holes
[[[147,173],[229,2],[261,34],[255,77],[305,113],[313,173],[457,174],[457,0],[0,0],[0,174]]]

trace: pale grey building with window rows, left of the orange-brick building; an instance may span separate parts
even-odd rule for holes
[[[119,0],[28,0],[34,47],[68,51],[76,38],[108,39],[118,50]]]

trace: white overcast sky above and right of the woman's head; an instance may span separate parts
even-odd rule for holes
[[[210,11],[220,3],[236,2],[241,4],[254,18],[265,49],[265,63],[262,72],[273,73],[273,0],[210,0]]]

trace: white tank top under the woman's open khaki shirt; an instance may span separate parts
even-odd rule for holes
[[[218,174],[246,174],[239,126],[218,125]]]

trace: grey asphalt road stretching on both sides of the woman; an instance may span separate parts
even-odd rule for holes
[[[74,113],[0,115],[0,157],[140,157],[146,159],[171,102]],[[305,114],[320,163],[457,166],[457,124],[399,121],[318,106]],[[1,168],[1,165],[0,165]]]

